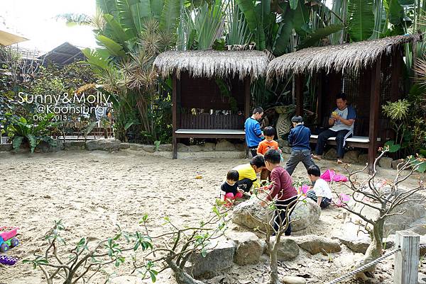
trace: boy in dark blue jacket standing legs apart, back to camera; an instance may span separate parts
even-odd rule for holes
[[[315,165],[314,161],[312,161],[309,147],[310,129],[303,125],[303,118],[301,116],[293,116],[291,122],[293,123],[293,129],[290,130],[290,135],[288,135],[291,154],[290,159],[285,164],[285,170],[288,171],[290,176],[300,161],[306,169]]]

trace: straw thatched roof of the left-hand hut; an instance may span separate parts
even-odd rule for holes
[[[251,80],[266,75],[269,59],[265,52],[256,50],[218,51],[168,51],[163,52],[154,61],[160,76],[166,77],[176,72],[187,71],[191,76],[207,78],[239,76]]]

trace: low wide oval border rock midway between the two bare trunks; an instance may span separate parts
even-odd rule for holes
[[[305,251],[309,251],[310,254],[329,254],[334,252],[342,251],[339,242],[335,239],[329,239],[327,237],[316,236],[314,234],[308,234],[305,236],[297,237],[297,245],[299,245]]]

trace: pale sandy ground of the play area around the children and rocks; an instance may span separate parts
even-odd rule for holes
[[[8,254],[20,259],[31,258],[46,244],[45,233],[54,220],[62,220],[66,226],[63,236],[67,244],[75,244],[82,237],[104,239],[114,235],[115,225],[127,231],[141,229],[138,221],[144,213],[150,217],[149,225],[155,232],[164,232],[164,216],[177,224],[190,224],[207,215],[217,186],[226,171],[248,159],[178,159],[145,156],[131,150],[118,153],[70,152],[55,154],[0,153],[0,224],[20,227],[21,244]],[[342,171],[333,161],[320,161],[322,170],[331,167]],[[355,166],[355,167],[359,167]],[[381,176],[391,177],[391,170],[381,170]],[[202,176],[195,179],[195,176]],[[300,164],[293,177],[307,179]],[[415,178],[408,183],[415,183]],[[343,187],[334,188],[345,191]],[[312,228],[313,234],[332,237],[339,234],[343,210],[323,210],[320,223]],[[230,224],[231,229],[239,229]],[[297,234],[296,234],[297,235]],[[342,245],[342,252],[333,256],[305,251],[294,261],[281,263],[280,273],[289,276],[309,276],[309,283],[323,283],[349,271],[361,254],[354,254]],[[235,266],[226,276],[219,276],[206,283],[263,283],[268,278],[268,266],[264,263]],[[393,257],[378,266],[377,283],[391,283]],[[108,268],[107,271],[112,271]],[[424,269],[424,268],[422,268]],[[130,264],[116,272],[129,275]],[[0,265],[0,283],[41,284],[43,274],[31,265]],[[99,273],[92,283],[104,283],[105,273]],[[62,281],[58,280],[58,283]],[[129,282],[130,283],[130,282]],[[150,283],[146,281],[145,283]],[[172,284],[175,280],[169,271],[161,274],[157,283]]]

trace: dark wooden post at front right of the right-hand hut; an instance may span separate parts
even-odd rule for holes
[[[381,57],[378,57],[371,72],[370,124],[368,128],[368,174],[373,174],[373,163],[377,154],[378,113],[380,112],[380,72]]]

